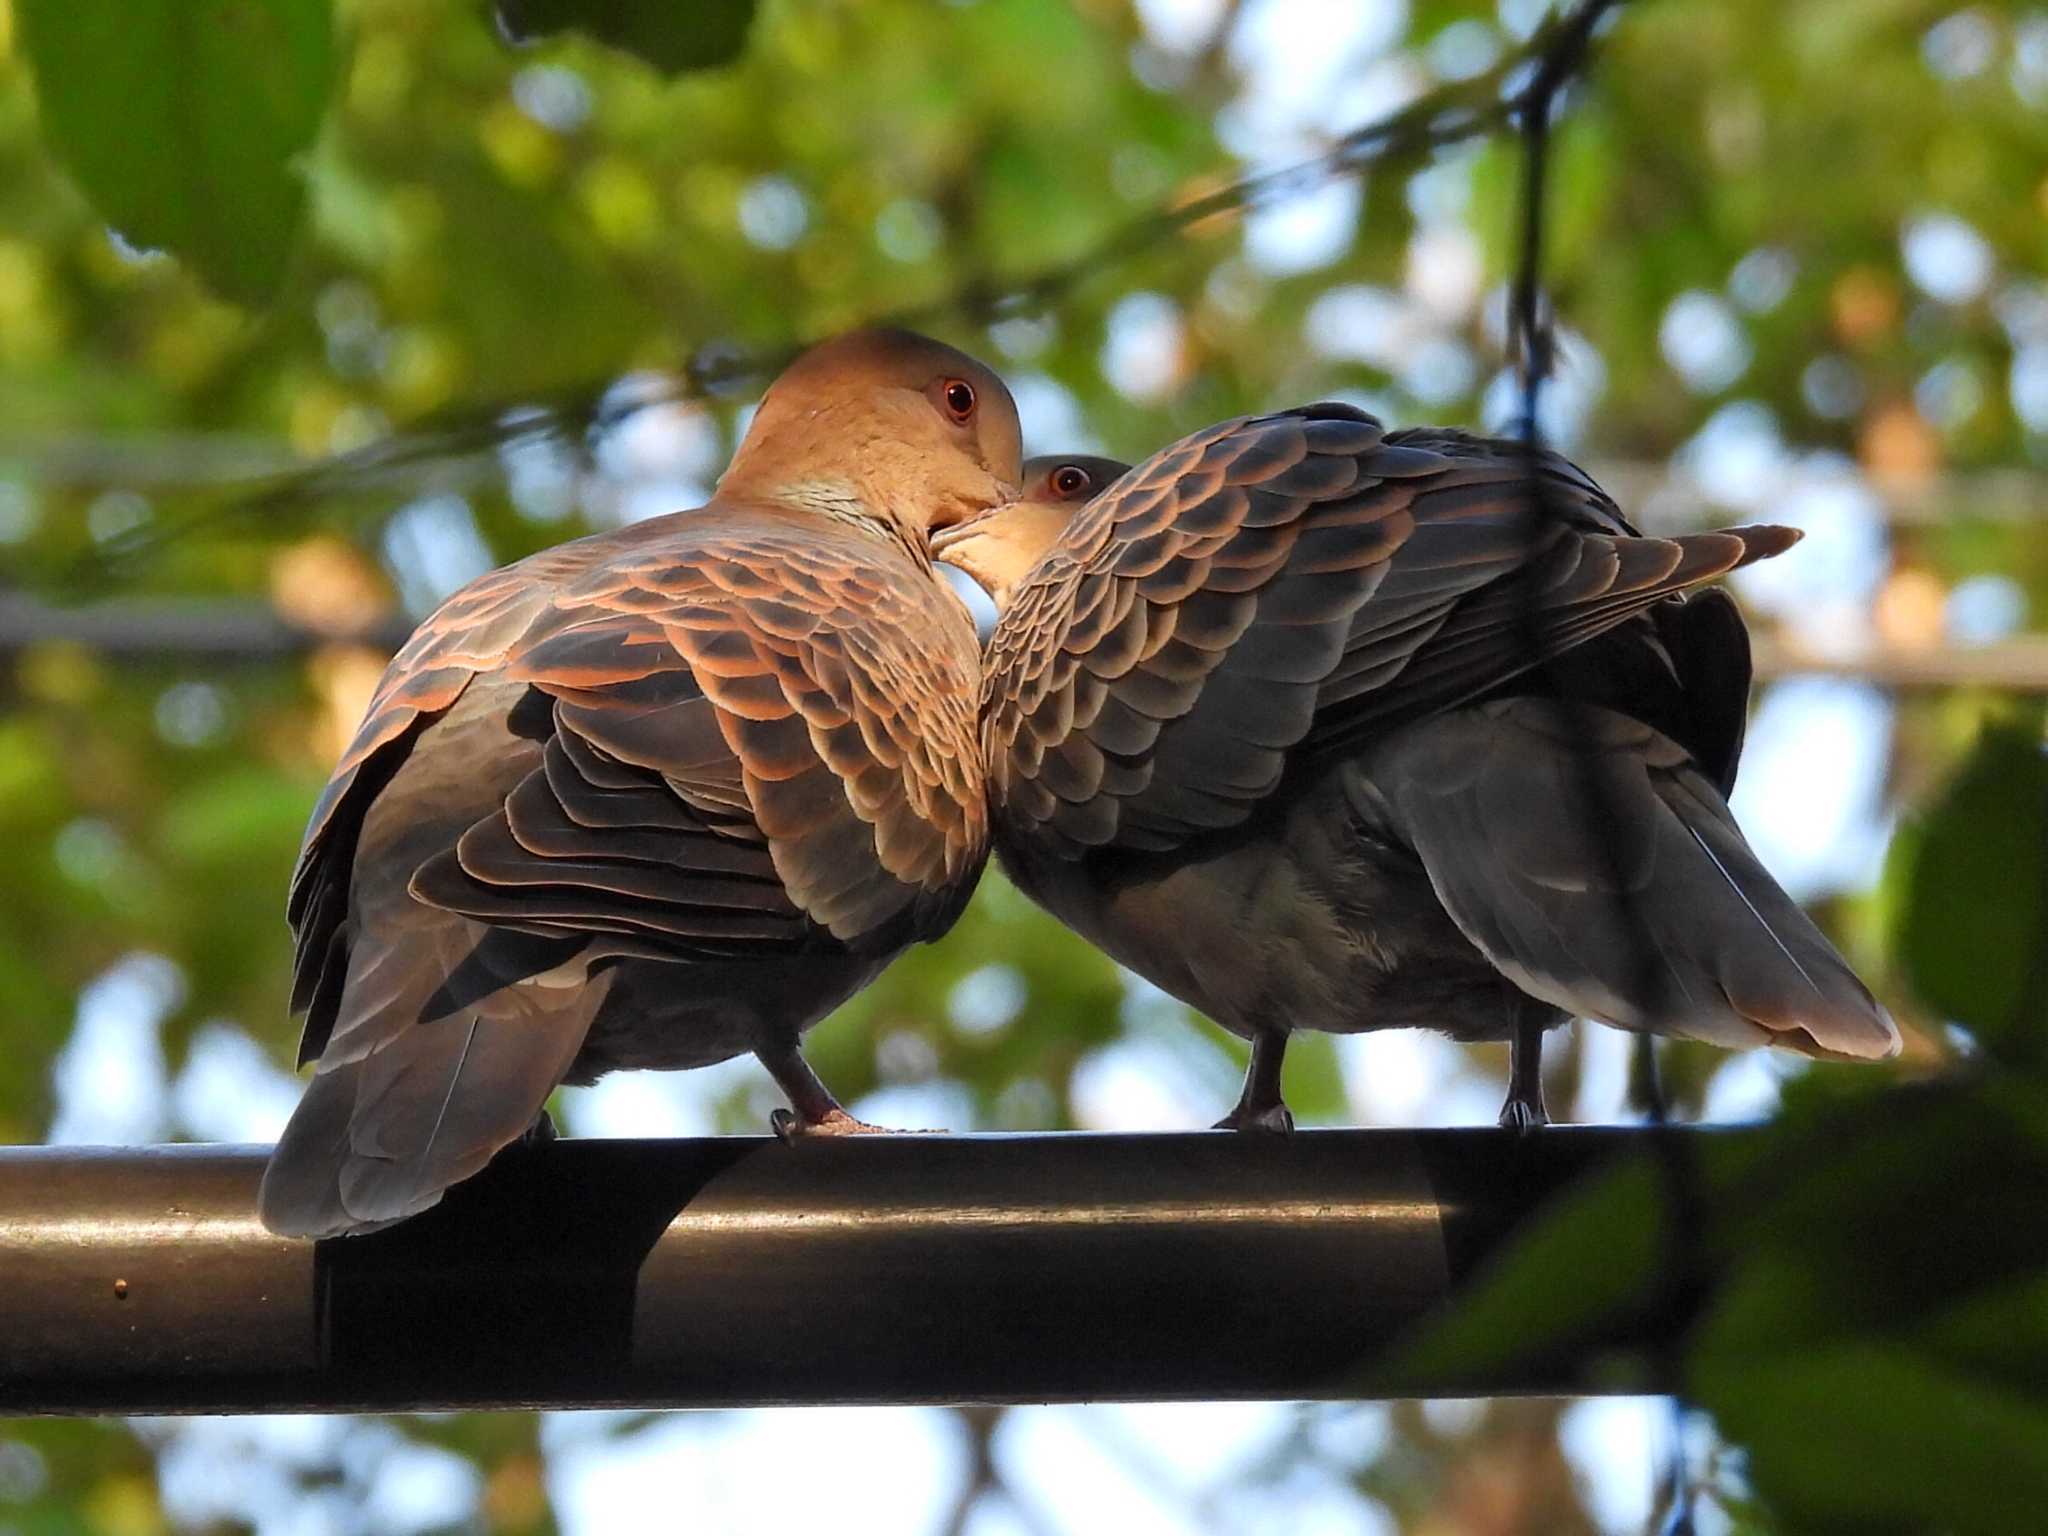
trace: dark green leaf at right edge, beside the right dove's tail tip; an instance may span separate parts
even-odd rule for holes
[[[1915,989],[1993,1053],[2042,1047],[2048,754],[1995,725],[1901,848],[1898,952]]]

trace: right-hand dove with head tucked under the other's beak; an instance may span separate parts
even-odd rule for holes
[[[1642,539],[1556,455],[1348,406],[1122,471],[1034,459],[934,549],[1001,612],[997,858],[1251,1040],[1223,1124],[1292,1124],[1296,1028],[1507,1038],[1518,1126],[1575,1014],[1898,1049],[1729,815],[1749,637],[1726,594],[1683,596],[1796,532]]]

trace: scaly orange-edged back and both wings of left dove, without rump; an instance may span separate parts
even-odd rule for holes
[[[393,659],[313,811],[289,918],[301,1059],[348,971],[365,811],[479,676],[541,764],[412,872],[428,905],[657,958],[932,938],[987,848],[975,649],[858,532],[707,508],[561,545],[451,598]],[[948,606],[950,604],[950,606]]]

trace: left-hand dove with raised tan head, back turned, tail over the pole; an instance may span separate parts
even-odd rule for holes
[[[434,1204],[557,1083],[799,1036],[946,932],[987,852],[979,651],[930,530],[1018,489],[1010,391],[907,332],[813,348],[713,500],[530,555],[391,662],[291,887],[272,1231]]]

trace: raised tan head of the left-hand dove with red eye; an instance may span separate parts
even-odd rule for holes
[[[858,330],[768,387],[719,494],[874,522],[922,549],[1018,494],[1018,442],[1016,401],[967,352]]]

